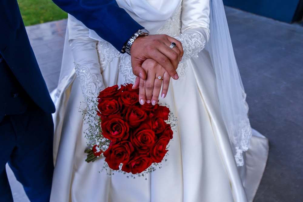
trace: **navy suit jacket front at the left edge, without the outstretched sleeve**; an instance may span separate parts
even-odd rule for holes
[[[45,112],[54,112],[55,106],[29,43],[17,1],[1,0],[0,8],[0,54],[30,98]],[[7,69],[8,67],[5,66]],[[10,86],[5,86],[5,83],[10,84],[12,78],[4,76],[3,68],[0,69],[0,92],[7,92]],[[11,96],[1,95],[0,121],[3,111],[15,107],[10,106],[10,99]],[[6,108],[3,105],[6,105]]]

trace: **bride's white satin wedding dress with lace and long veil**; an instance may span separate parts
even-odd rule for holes
[[[51,201],[252,201],[268,141],[251,130],[221,0],[117,2],[151,34],[182,42],[180,78],[171,79],[167,96],[159,100],[178,118],[168,161],[147,180],[121,173],[108,177],[99,173],[102,160],[85,162],[87,125],[78,111],[80,103],[108,86],[134,83],[135,76],[130,55],[69,15],[70,47],[65,47],[61,79],[52,93],[56,112]]]

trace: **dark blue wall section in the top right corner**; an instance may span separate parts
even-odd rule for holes
[[[279,21],[291,22],[299,0],[223,0],[224,4]]]

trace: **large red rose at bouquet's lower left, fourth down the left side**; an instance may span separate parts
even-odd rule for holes
[[[128,141],[119,141],[112,144],[103,153],[105,161],[113,170],[119,170],[119,165],[127,163],[130,155],[134,151],[132,143]]]

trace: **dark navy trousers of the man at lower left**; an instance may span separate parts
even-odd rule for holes
[[[52,114],[31,102],[22,114],[0,122],[0,201],[13,202],[5,164],[32,202],[48,202],[54,170]]]

